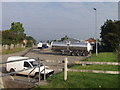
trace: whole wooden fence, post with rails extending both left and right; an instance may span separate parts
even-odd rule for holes
[[[79,69],[70,69],[68,68],[69,64],[75,65],[75,64],[81,64],[84,65],[90,65],[90,64],[96,64],[96,65],[120,65],[119,62],[87,62],[87,61],[68,61],[67,58],[64,59],[64,61],[55,61],[55,60],[44,60],[45,62],[52,62],[52,63],[64,63],[63,68],[52,68],[53,70],[60,70],[64,71],[64,80],[67,80],[67,72],[91,72],[91,73],[105,73],[105,74],[120,74],[120,71],[103,71],[103,70],[79,70]]]

